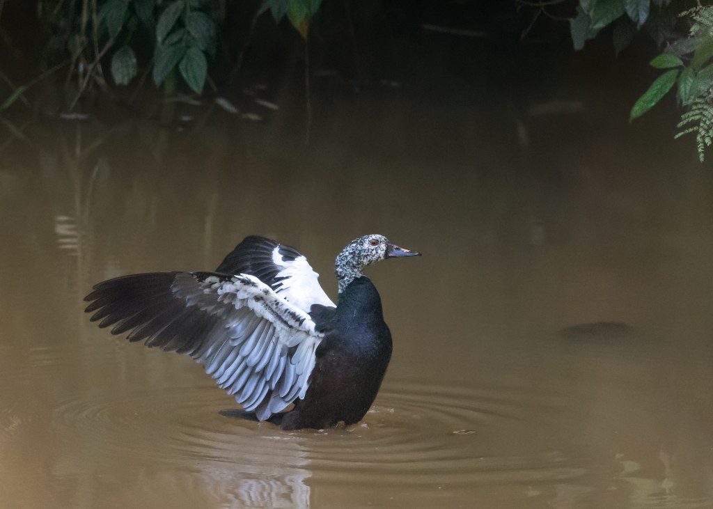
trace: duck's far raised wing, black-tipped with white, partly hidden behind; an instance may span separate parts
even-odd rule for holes
[[[245,237],[216,269],[221,274],[250,274],[280,296],[309,312],[312,304],[336,307],[319,286],[319,274],[299,251],[265,237]]]

